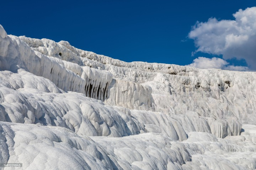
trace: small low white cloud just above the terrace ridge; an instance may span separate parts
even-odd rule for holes
[[[234,66],[234,65],[229,65],[229,62],[217,58],[217,57],[212,57],[211,59],[206,58],[206,57],[198,57],[197,59],[193,60],[192,64],[186,65],[190,67],[196,67],[196,68],[220,68],[222,70],[233,70],[233,71],[248,71],[248,67],[244,66]]]

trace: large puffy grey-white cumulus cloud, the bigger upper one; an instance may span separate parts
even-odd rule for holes
[[[256,7],[240,9],[233,16],[235,20],[209,18],[207,22],[197,22],[188,37],[194,39],[195,53],[245,59],[248,66],[256,70]]]

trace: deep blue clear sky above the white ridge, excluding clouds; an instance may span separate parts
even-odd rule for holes
[[[206,48],[191,55],[197,49],[194,40],[205,38],[188,37],[197,21],[235,20],[233,13],[253,6],[255,0],[2,1],[0,24],[7,34],[66,40],[76,48],[127,62],[189,65],[198,57],[228,56]],[[246,57],[238,58],[225,61],[248,66]]]

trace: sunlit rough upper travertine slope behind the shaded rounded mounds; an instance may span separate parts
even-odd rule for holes
[[[251,102],[255,99],[255,72],[127,63],[76,49],[65,41],[20,38],[43,54],[111,73],[105,104],[182,115],[180,124],[183,118],[189,119],[197,131],[218,137],[239,135],[242,121],[256,120],[256,105]],[[198,119],[203,126],[197,125]]]

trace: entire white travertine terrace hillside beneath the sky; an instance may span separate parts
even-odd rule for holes
[[[255,72],[128,63],[0,25],[0,163],[256,169],[255,92]]]

